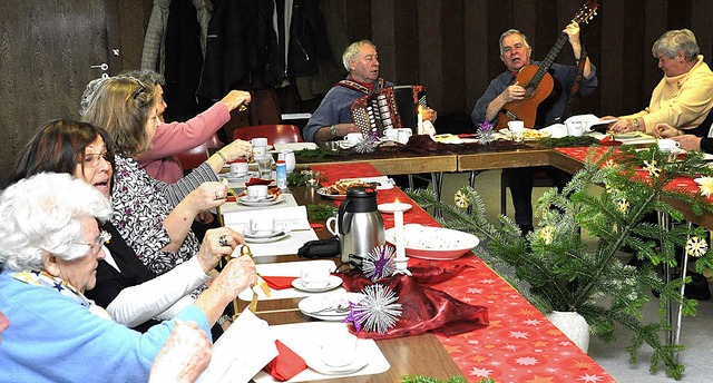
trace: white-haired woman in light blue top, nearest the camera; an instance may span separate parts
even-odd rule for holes
[[[175,320],[145,334],[127,328],[85,295],[106,256],[98,223],[110,216],[107,198],[68,174],[38,174],[0,195],[0,311],[12,322],[2,332],[0,381],[147,382],[179,322],[211,338],[225,306],[257,279],[250,257],[234,258]]]

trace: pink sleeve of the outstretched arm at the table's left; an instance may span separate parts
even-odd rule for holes
[[[139,164],[177,155],[205,143],[223,125],[231,120],[227,106],[215,102],[206,111],[186,122],[162,124],[156,129],[152,148],[139,158]]]

